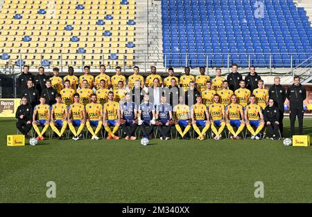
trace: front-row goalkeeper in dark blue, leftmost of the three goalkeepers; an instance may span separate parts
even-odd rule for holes
[[[136,140],[135,130],[137,129],[137,105],[131,101],[130,93],[125,94],[125,102],[120,105],[121,126],[125,132],[125,140]],[[130,126],[128,131],[127,126]]]

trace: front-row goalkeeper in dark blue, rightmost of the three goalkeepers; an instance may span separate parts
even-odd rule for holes
[[[169,133],[173,125],[172,106],[166,103],[165,95],[162,95],[160,100],[161,103],[156,106],[156,126],[161,134],[160,140],[170,140],[171,137],[169,137]]]

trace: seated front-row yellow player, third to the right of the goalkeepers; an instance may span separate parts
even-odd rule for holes
[[[211,122],[211,131],[216,135],[215,140],[220,140],[222,138],[221,133],[225,128],[225,111],[224,105],[220,104],[220,96],[218,94],[214,95],[214,103],[210,104],[208,107],[210,122]],[[216,129],[216,126],[219,129]]]

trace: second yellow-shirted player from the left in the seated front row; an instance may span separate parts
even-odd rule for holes
[[[55,95],[56,103],[51,106],[50,126],[54,133],[58,134],[60,140],[64,139],[64,131],[67,128],[67,105],[62,103],[60,93]],[[61,131],[58,130],[61,127]]]

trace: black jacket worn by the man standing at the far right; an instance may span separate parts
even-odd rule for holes
[[[306,100],[306,90],[299,84],[293,84],[286,91],[286,97],[289,100],[289,110],[300,109],[303,110],[303,102]]]

